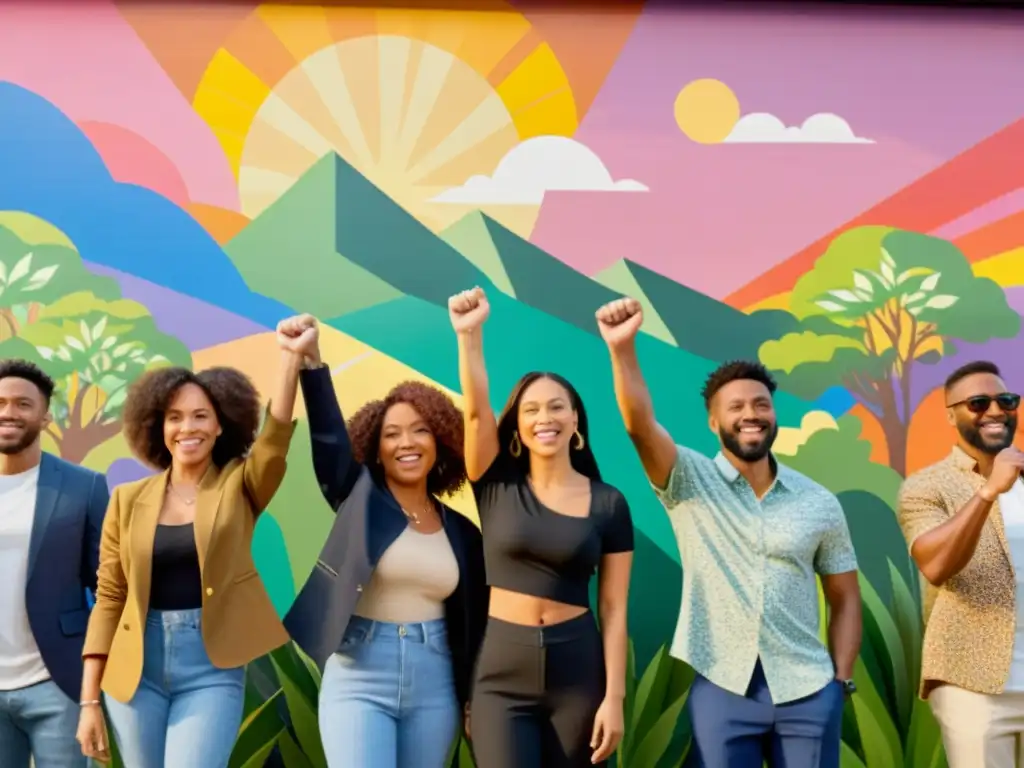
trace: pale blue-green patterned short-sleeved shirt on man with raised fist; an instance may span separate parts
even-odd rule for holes
[[[820,639],[815,573],[857,569],[839,500],[775,463],[759,501],[722,454],[677,451],[667,486],[654,488],[683,561],[672,655],[738,695],[760,658],[776,705],[820,690],[835,668]]]

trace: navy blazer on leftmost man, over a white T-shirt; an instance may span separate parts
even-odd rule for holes
[[[99,536],[110,493],[98,472],[43,454],[29,540],[25,604],[50,679],[73,700],[82,695],[82,644],[95,596]]]

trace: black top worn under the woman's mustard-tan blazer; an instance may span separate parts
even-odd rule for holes
[[[153,541],[150,607],[189,610],[203,606],[203,577],[193,523],[158,525]]]

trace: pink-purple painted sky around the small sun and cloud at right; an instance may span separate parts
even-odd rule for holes
[[[549,194],[534,243],[587,273],[630,258],[722,298],[1024,115],[1024,24],[749,8],[644,12],[575,138],[650,191]],[[831,112],[877,143],[694,143],[673,103],[708,77],[743,114]]]

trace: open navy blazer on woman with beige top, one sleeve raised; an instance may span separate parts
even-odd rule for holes
[[[312,573],[285,616],[285,628],[323,670],[341,644],[381,555],[409,520],[387,488],[352,457],[331,372],[326,367],[303,371],[299,381],[309,419],[313,469],[336,517]],[[444,617],[456,695],[465,707],[487,621],[483,540],[471,520],[443,505],[441,522],[459,562],[459,586],[444,603]]]

